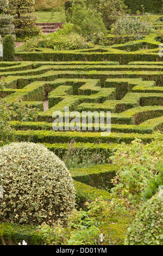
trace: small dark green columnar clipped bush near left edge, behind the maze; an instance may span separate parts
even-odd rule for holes
[[[12,35],[5,35],[3,40],[3,60],[13,60],[15,53],[14,39]]]

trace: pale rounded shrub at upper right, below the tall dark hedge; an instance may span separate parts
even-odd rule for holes
[[[148,35],[152,32],[152,23],[138,17],[120,17],[112,26],[111,33],[116,35]]]

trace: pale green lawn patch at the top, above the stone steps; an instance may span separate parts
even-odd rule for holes
[[[51,11],[35,11],[35,13],[32,13],[30,15],[34,15],[37,17],[36,22],[37,23],[43,23],[43,22],[65,22],[66,17],[64,10],[63,11],[55,11],[53,13],[53,17],[51,16]]]

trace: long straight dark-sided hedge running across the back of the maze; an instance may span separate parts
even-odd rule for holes
[[[121,52],[112,53],[112,52],[20,52],[15,53],[15,59],[20,61],[82,61],[85,59],[86,61],[111,61],[114,59],[116,62],[120,64],[128,64],[131,61],[161,61],[158,53],[150,53],[150,52]]]

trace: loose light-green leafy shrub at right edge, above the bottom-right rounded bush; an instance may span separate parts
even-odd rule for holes
[[[142,203],[147,180],[158,174],[157,167],[163,160],[162,143],[162,133],[158,132],[148,144],[136,139],[128,145],[117,145],[115,154],[110,157],[116,164],[116,176],[112,179],[115,187],[111,192],[131,209]]]

